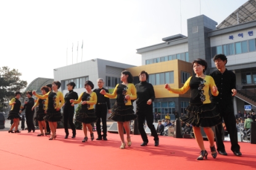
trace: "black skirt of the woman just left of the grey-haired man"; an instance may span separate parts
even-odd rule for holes
[[[76,121],[80,121],[81,123],[90,124],[97,121],[97,116],[94,109],[84,109],[82,108],[78,115],[76,115]]]

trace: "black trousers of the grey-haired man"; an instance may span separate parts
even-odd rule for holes
[[[107,136],[107,105],[97,105],[96,104],[96,116],[97,116],[97,122],[96,122],[96,129],[97,129],[97,135],[99,137]],[[103,135],[101,134],[101,122],[102,122],[102,132]]]

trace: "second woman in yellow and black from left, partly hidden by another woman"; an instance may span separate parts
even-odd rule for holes
[[[47,94],[49,92],[49,88],[46,86],[43,86],[41,88],[41,92],[43,95]],[[36,116],[35,121],[38,121],[39,129],[41,131],[41,134],[38,134],[38,136],[44,136],[47,135],[46,131],[46,121],[44,120],[44,116],[46,116],[46,110],[47,110],[47,99],[38,99],[36,100],[35,105],[32,107],[32,110],[34,110],[35,107],[38,106],[38,109],[36,110]],[[44,127],[44,132],[43,132]]]

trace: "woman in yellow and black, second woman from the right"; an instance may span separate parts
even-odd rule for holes
[[[125,148],[125,139],[123,137],[123,128],[125,128],[127,135],[127,144],[128,147],[131,146],[131,137],[130,137],[130,121],[136,119],[136,115],[133,111],[133,104],[131,100],[137,99],[136,88],[133,84],[133,76],[127,70],[123,71],[121,74],[122,84],[117,84],[115,86],[114,92],[109,94],[104,90],[101,90],[101,94],[104,94],[106,97],[115,98],[115,105],[112,107],[112,115],[109,119],[117,121],[118,124],[118,133],[122,140],[121,149]]]

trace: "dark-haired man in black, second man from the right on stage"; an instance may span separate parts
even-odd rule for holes
[[[154,115],[152,102],[155,99],[155,91],[152,84],[147,83],[147,78],[149,75],[146,71],[141,71],[139,74],[139,81],[141,83],[136,84],[136,114],[138,115],[138,129],[141,133],[141,138],[143,143],[141,146],[146,146],[149,140],[147,139],[147,134],[144,130],[144,121],[147,121],[147,127],[151,129],[151,136],[154,136],[155,146],[159,145],[159,137],[157,136],[157,131],[155,130]]]

